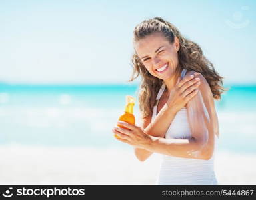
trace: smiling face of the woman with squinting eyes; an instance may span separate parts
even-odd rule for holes
[[[135,43],[135,51],[147,71],[159,79],[173,77],[178,65],[179,39],[170,44],[162,33],[153,33]]]

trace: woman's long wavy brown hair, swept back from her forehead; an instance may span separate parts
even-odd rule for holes
[[[222,87],[223,77],[215,71],[213,64],[203,55],[203,51],[197,43],[183,37],[177,27],[161,17],[155,17],[139,23],[133,31],[133,42],[137,42],[152,33],[162,33],[163,37],[171,44],[173,44],[176,36],[180,45],[177,70],[187,69],[187,71],[201,73],[211,87],[213,98],[221,99],[221,93],[226,90]],[[163,80],[151,75],[136,53],[133,54],[132,65],[133,73],[129,81],[133,81],[141,75],[138,100],[142,117],[145,118],[152,114],[155,98],[163,84]]]

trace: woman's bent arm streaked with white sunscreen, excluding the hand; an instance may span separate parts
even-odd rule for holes
[[[187,116],[191,127],[191,139],[164,139],[149,135],[142,145],[147,151],[193,159],[210,159],[214,149],[214,135],[218,132],[211,89],[203,77],[199,93],[187,104]]]

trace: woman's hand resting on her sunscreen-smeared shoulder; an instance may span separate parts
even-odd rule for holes
[[[200,79],[194,79],[194,75],[185,76],[182,80],[179,78],[167,100],[171,111],[177,113],[182,107],[185,107],[189,100],[197,95],[199,85]]]

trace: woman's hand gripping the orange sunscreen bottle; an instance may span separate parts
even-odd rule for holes
[[[143,148],[150,141],[150,137],[141,127],[131,125],[124,121],[118,121],[117,125],[121,125],[126,129],[121,127],[114,127],[112,132],[117,135],[117,139],[133,147]]]

